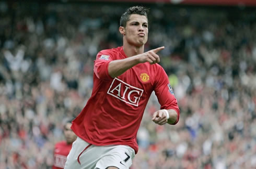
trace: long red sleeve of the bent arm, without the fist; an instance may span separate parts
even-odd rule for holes
[[[174,96],[173,90],[169,83],[168,76],[165,70],[160,67],[158,74],[155,76],[155,93],[158,99],[158,102],[161,105],[161,109],[173,109],[177,112],[177,120],[173,123],[176,124],[180,118],[180,109],[178,107],[177,99]]]

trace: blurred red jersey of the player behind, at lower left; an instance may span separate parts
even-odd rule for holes
[[[67,155],[71,148],[72,144],[67,144],[66,141],[60,141],[55,144],[53,169],[64,168],[67,161]]]

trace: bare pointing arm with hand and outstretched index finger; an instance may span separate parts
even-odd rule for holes
[[[108,73],[114,78],[123,74],[126,70],[134,67],[138,63],[149,62],[150,64],[158,63],[160,61],[159,56],[157,55],[158,51],[164,49],[165,47],[158,47],[152,50],[149,50],[143,54],[135,55],[120,60],[112,60],[109,62]]]

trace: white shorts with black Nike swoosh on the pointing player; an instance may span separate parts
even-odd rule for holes
[[[115,166],[128,169],[132,165],[134,155],[134,150],[129,146],[95,146],[77,137],[67,156],[64,168],[105,169]]]

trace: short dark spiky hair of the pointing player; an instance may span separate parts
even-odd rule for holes
[[[143,15],[147,18],[148,11],[149,9],[143,6],[133,6],[128,8],[120,18],[120,27],[126,27],[126,22],[129,21],[132,14]]]

